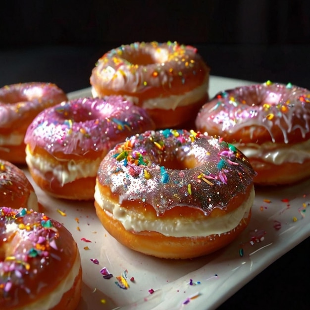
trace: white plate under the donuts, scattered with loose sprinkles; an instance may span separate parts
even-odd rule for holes
[[[246,84],[251,83],[211,76],[209,94],[212,97],[218,91]],[[90,89],[69,94],[71,99],[86,96],[91,96]],[[25,172],[45,213],[63,223],[78,244],[83,267],[78,310],[215,309],[310,236],[310,180],[306,180],[284,188],[257,188],[249,227],[225,249],[190,260],[153,258],[114,240],[97,218],[93,202],[51,198]],[[98,259],[99,264],[91,259]],[[113,277],[103,278],[103,267]],[[116,284],[119,276],[126,280],[127,288]]]

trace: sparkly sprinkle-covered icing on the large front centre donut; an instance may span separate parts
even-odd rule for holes
[[[182,166],[194,158],[195,167]],[[169,167],[178,162],[180,169]],[[147,131],[117,145],[101,162],[98,180],[119,203],[150,204],[158,215],[176,206],[225,209],[245,193],[255,172],[234,146],[186,130]]]

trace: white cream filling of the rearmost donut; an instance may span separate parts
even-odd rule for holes
[[[179,106],[186,106],[192,103],[196,103],[207,94],[208,90],[208,78],[205,79],[204,83],[195,88],[192,91],[189,91],[183,95],[171,95],[168,97],[158,97],[158,98],[151,98],[145,100],[142,104],[142,107],[145,109],[176,109]],[[96,92],[95,88],[92,87],[92,95],[94,98],[98,97],[98,93]],[[127,100],[132,101],[135,104],[138,104],[139,98],[135,96],[124,96]]]

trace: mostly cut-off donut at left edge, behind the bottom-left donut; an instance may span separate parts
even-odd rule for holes
[[[38,198],[23,170],[0,159],[1,206],[32,208],[38,211]]]

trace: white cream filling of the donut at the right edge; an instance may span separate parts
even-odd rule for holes
[[[310,159],[310,140],[287,146],[271,142],[261,145],[255,143],[234,143],[234,145],[249,159],[260,158],[275,165],[284,162],[303,163],[305,160]]]

